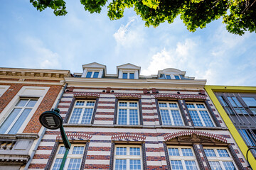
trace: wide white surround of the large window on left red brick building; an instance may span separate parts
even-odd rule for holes
[[[38,91],[36,91],[36,94],[31,95],[30,93],[26,92],[27,89],[35,90],[35,91],[38,90]],[[14,98],[6,106],[6,108],[4,108],[4,110],[1,112],[1,114],[0,114],[0,123],[1,124],[4,123],[4,120],[9,116],[9,114],[13,110],[14,106],[16,105],[16,103],[18,103],[20,98],[38,98],[38,101],[36,102],[36,105],[33,107],[32,111],[28,114],[28,117],[26,118],[26,120],[24,120],[24,122],[21,125],[21,128],[17,132],[17,133],[22,133],[23,130],[26,128],[26,125],[28,125],[28,122],[33,117],[33,114],[38,109],[38,106],[43,101],[43,98],[46,96],[46,94],[47,94],[49,89],[50,89],[50,87],[46,87],[46,86],[23,86],[18,91],[16,96],[14,96]]]

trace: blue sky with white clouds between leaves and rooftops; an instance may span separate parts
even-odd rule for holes
[[[176,68],[211,85],[255,86],[256,34],[233,35],[222,20],[189,32],[182,21],[147,28],[132,9],[110,21],[107,8],[90,14],[79,0],[66,0],[68,14],[36,11],[28,0],[0,0],[0,67],[69,69],[82,64],[132,63],[143,75]]]

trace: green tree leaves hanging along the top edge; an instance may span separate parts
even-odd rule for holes
[[[30,0],[39,11],[52,8],[55,16],[65,16],[64,0]],[[100,13],[107,0],[80,0],[85,11]],[[194,32],[205,28],[207,23],[223,18],[230,33],[243,35],[245,31],[256,32],[256,0],[112,0],[107,6],[107,16],[116,20],[124,16],[125,8],[134,8],[145,21],[145,26],[173,23],[180,15],[181,20]]]

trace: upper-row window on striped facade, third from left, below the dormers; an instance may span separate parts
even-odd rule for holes
[[[159,102],[159,111],[163,125],[183,125],[176,102]]]

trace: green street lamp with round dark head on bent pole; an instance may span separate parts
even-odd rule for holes
[[[56,130],[60,129],[60,135],[63,138],[63,143],[65,146],[65,154],[63,156],[63,160],[60,164],[60,170],[63,170],[65,165],[65,160],[68,156],[68,151],[70,149],[70,142],[68,141],[68,137],[65,134],[65,130],[63,128],[63,118],[60,116],[60,110],[58,108],[52,109],[52,111],[45,111],[43,112],[40,117],[39,121],[43,127],[50,129],[50,130]]]

